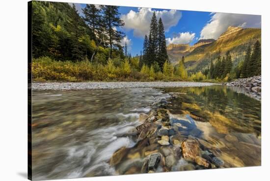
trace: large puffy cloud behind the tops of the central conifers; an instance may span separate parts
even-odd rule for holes
[[[155,12],[158,20],[162,18],[165,31],[177,25],[182,17],[182,13],[179,10],[162,10]],[[128,14],[121,15],[121,19],[125,22],[124,29],[134,30],[133,33],[136,37],[143,37],[145,34],[149,33],[149,25],[153,13],[154,10],[151,8],[138,8],[138,12],[130,10]]]

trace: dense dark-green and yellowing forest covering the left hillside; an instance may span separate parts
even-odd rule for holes
[[[32,55],[55,60],[85,60],[107,63],[125,58],[120,45],[124,26],[119,6],[87,4],[80,16],[73,4],[32,2]]]

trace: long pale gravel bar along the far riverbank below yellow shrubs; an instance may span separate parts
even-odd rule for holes
[[[220,85],[203,82],[78,82],[78,83],[32,83],[32,90],[91,90],[123,88],[203,87]]]

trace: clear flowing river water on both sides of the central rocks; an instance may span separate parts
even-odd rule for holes
[[[135,146],[139,115],[164,98],[170,121],[186,125],[181,134],[228,167],[261,165],[261,102],[227,87],[33,91],[33,179],[117,175],[111,155]]]

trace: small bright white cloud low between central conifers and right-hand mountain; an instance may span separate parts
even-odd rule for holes
[[[167,44],[189,44],[195,37],[195,33],[179,32],[173,38],[166,38]]]

